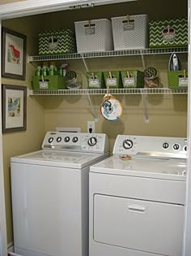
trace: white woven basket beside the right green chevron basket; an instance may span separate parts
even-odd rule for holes
[[[112,18],[114,50],[147,48],[148,31],[147,15],[127,15]]]

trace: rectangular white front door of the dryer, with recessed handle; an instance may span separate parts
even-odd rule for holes
[[[94,240],[153,254],[180,256],[184,206],[94,196]]]

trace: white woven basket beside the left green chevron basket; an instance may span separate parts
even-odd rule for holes
[[[113,50],[110,20],[76,21],[74,26],[78,53]]]

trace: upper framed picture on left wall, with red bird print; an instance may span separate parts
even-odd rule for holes
[[[2,76],[25,80],[27,37],[2,28]]]

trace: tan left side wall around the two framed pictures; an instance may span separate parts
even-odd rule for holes
[[[3,21],[2,25],[6,28],[11,28],[19,33],[27,36],[28,46],[27,54],[35,50],[32,41],[33,27],[28,19],[22,20],[7,20]],[[32,74],[35,67],[31,63],[27,63],[26,80],[13,80],[2,78],[2,84],[6,85],[24,85],[31,87]],[[3,145],[3,163],[4,163],[4,181],[5,181],[5,197],[6,197],[6,227],[8,243],[13,241],[12,236],[12,216],[11,216],[11,183],[10,183],[10,159],[13,155],[24,154],[32,150],[39,150],[40,143],[45,135],[44,109],[36,101],[36,98],[27,98],[27,131],[26,132],[11,132],[2,135]]]

